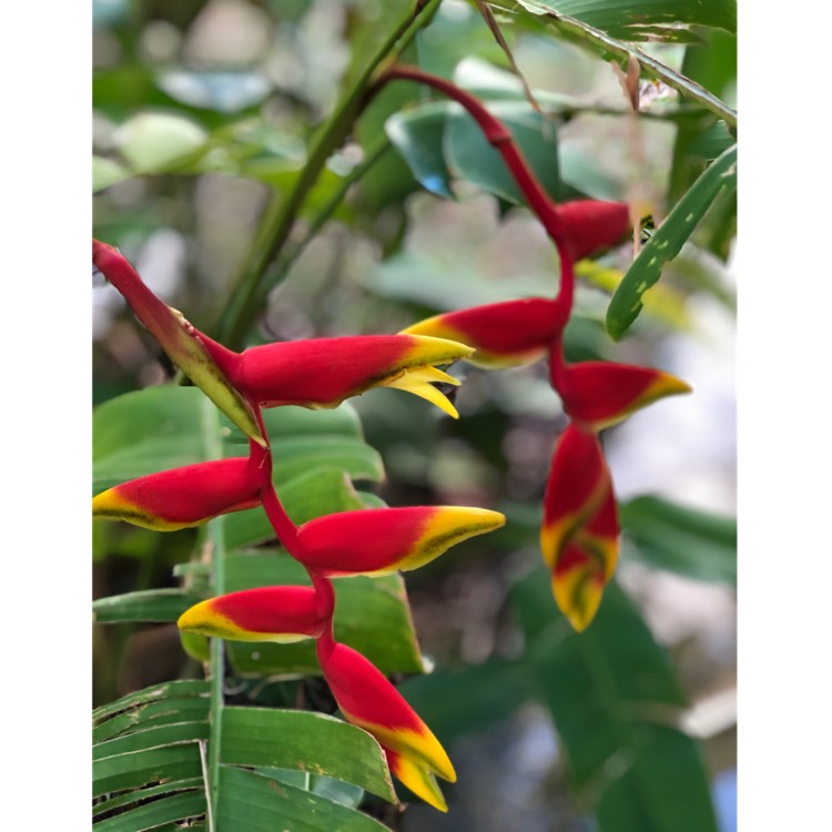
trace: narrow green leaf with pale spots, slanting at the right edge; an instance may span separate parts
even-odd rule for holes
[[[641,296],[661,276],[691,235],[697,223],[723,190],[737,187],[737,145],[726,151],[693,183],[628,270],[607,311],[607,331],[618,341],[643,306]]]

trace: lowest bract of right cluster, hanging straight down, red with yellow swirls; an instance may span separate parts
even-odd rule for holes
[[[544,496],[540,548],[555,600],[572,627],[595,617],[618,558],[618,511],[598,437],[576,425],[564,430]]]

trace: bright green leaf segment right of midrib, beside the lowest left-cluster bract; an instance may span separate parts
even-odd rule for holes
[[[323,713],[225,708],[220,759],[323,774],[396,800],[381,745],[366,731]]]

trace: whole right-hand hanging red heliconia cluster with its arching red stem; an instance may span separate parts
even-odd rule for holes
[[[632,412],[690,387],[660,371],[609,362],[567,364],[564,329],[572,311],[575,263],[618,243],[629,230],[621,202],[578,200],[556,204],[544,191],[510,132],[483,104],[449,81],[397,65],[383,80],[426,83],[460,103],[500,152],[560,258],[557,296],[531,297],[450,312],[422,321],[408,335],[450,338],[473,347],[464,359],[485,368],[549,358],[551,386],[569,425],[559,437],[544,496],[540,548],[551,571],[555,600],[572,627],[584,630],[601,602],[618,559],[618,509],[598,434]]]

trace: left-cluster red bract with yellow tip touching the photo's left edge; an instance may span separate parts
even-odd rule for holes
[[[92,514],[145,529],[176,531],[256,506],[261,487],[247,457],[216,459],[108,488],[93,497]]]

